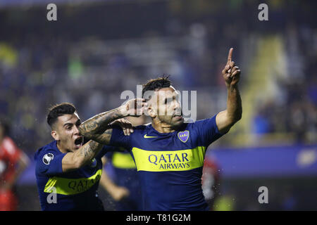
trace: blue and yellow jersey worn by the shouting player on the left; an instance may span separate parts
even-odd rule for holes
[[[56,141],[39,148],[35,153],[35,175],[42,210],[104,210],[97,195],[104,153],[103,148],[89,165],[63,172],[66,153],[58,150]]]

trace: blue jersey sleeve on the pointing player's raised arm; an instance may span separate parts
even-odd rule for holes
[[[195,122],[195,126],[199,132],[199,139],[201,143],[208,147],[213,141],[219,139],[223,134],[220,134],[217,124],[216,115],[209,119],[199,120]]]

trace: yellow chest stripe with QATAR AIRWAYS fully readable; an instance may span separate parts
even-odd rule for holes
[[[137,171],[185,171],[204,166],[206,147],[185,150],[153,151],[132,148]]]

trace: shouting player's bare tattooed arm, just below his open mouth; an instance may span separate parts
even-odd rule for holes
[[[63,172],[79,169],[91,162],[99,153],[103,145],[96,141],[88,141],[74,153],[67,153],[62,160]]]

